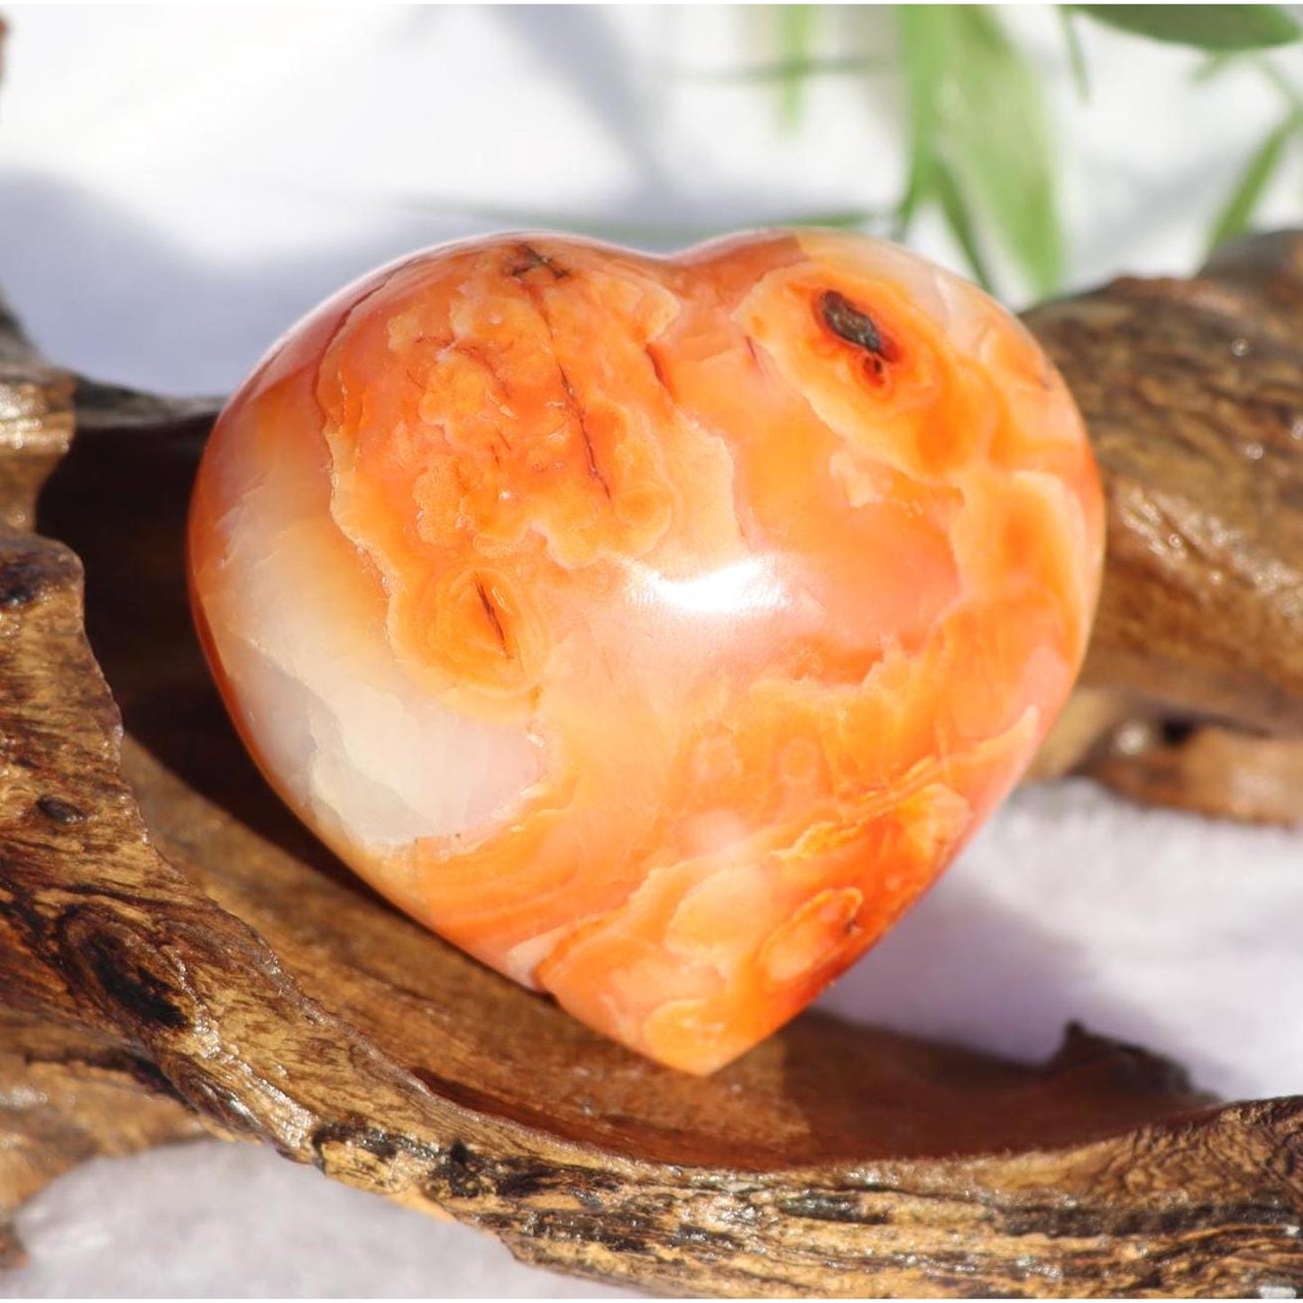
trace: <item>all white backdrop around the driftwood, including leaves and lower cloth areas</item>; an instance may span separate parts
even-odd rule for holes
[[[860,225],[1023,306],[1303,222],[1303,50],[1269,5],[5,17],[0,285],[52,360],[169,392],[227,391],[343,283],[502,228]],[[825,1005],[1027,1059],[1079,1019],[1227,1096],[1298,1091],[1299,852],[1022,791]],[[87,1166],[20,1229],[0,1295],[581,1289],[245,1147]]]

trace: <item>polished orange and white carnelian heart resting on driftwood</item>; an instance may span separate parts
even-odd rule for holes
[[[1102,508],[1024,330],[881,241],[511,236],[294,327],[223,412],[190,575],[267,779],[403,909],[709,1072],[1009,792]]]

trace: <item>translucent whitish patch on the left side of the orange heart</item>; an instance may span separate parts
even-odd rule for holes
[[[334,526],[291,525],[270,487],[228,520],[228,595],[210,610],[266,767],[318,829],[370,848],[482,826],[539,775],[524,726],[465,715],[394,655]],[[358,571],[361,564],[358,563]],[[229,594],[236,594],[232,597]]]

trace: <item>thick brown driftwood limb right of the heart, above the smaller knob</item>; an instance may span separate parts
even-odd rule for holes
[[[1108,562],[1087,687],[1303,736],[1303,235],[1027,323],[1087,420]]]

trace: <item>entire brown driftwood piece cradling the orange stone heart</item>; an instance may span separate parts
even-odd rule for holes
[[[1031,314],[1111,530],[1044,774],[1300,813],[1300,265],[1277,237]],[[202,1126],[661,1291],[1303,1289],[1303,1098],[1218,1106],[1081,1031],[1024,1067],[820,1014],[689,1079],[399,916],[203,671],[181,525],[212,404],[73,382],[12,323],[0,367],[0,1221]]]

